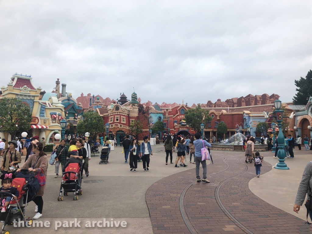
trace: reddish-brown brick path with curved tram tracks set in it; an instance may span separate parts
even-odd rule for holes
[[[148,189],[146,202],[154,233],[191,233],[187,224],[193,233],[312,233],[312,226],[305,221],[270,205],[249,190],[248,182],[256,172],[254,163],[245,163],[242,153],[212,151],[212,154],[214,164],[207,166],[210,183],[195,182],[183,193],[196,180],[195,169],[191,169],[163,178]],[[264,154],[272,156],[269,152]],[[269,163],[263,162],[261,174],[271,169]],[[218,188],[223,206],[237,222],[218,201]],[[186,222],[180,211],[181,194]]]

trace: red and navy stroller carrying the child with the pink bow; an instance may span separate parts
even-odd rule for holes
[[[13,224],[13,222],[24,221],[26,227],[32,225],[32,219],[26,218],[27,203],[32,201],[39,190],[38,179],[34,177],[33,172],[28,172],[28,169],[22,169],[21,172],[15,173],[16,178],[12,180],[12,187],[17,188],[19,196],[17,199],[13,199],[13,194],[7,192],[0,192],[1,195],[11,197],[11,202],[7,207],[7,211],[0,213],[0,222],[4,222],[2,226],[1,234],[10,234],[9,231],[5,231],[4,227],[7,224]],[[23,204],[20,206],[19,201],[23,198]]]

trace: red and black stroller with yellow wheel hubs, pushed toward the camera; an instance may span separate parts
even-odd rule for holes
[[[78,195],[82,195],[80,184],[80,169],[82,167],[82,160],[80,158],[68,158],[64,165],[63,181],[61,182],[60,195],[58,201],[63,201],[61,196],[64,191],[64,196],[68,193],[74,193],[74,200],[78,200]],[[78,195],[76,195],[78,193]]]

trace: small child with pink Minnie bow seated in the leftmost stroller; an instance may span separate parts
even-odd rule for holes
[[[0,189],[0,191],[12,193],[14,195],[13,198],[17,199],[17,197],[19,196],[19,192],[17,188],[11,187],[12,179],[14,178],[15,178],[15,175],[12,175],[12,173],[1,175],[0,179],[2,179],[1,181],[2,188]],[[11,197],[8,197],[7,194],[2,193],[0,201],[1,201],[1,206],[2,206],[1,213],[4,213],[7,211],[7,206],[11,201]]]

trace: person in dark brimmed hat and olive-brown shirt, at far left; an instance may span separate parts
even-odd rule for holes
[[[3,174],[15,173],[15,170],[18,169],[17,164],[22,162],[22,155],[15,149],[17,148],[17,141],[12,140],[7,144],[9,144],[9,149],[7,149],[3,154],[3,161],[1,165],[1,172]]]

